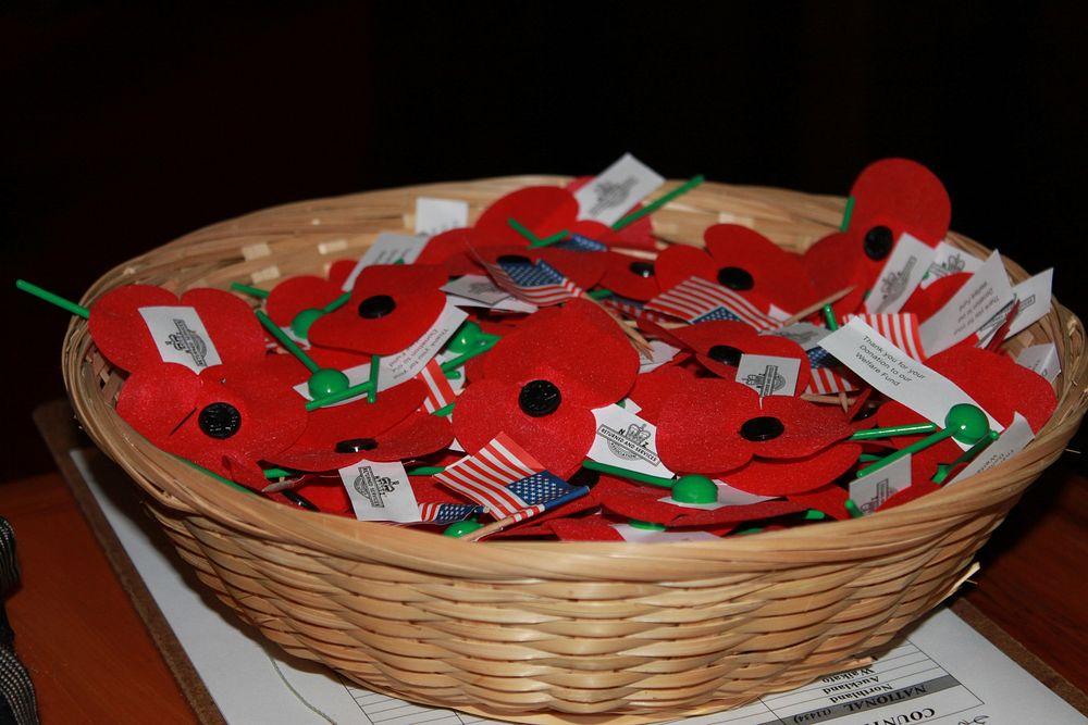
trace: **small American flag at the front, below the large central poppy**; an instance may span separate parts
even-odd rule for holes
[[[523,521],[589,491],[544,471],[536,459],[505,433],[434,477],[482,505],[495,518],[512,516],[515,521]]]

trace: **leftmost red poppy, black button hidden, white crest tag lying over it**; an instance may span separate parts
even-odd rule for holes
[[[172,315],[169,329],[152,332],[145,314],[154,308],[191,308],[210,339],[203,339],[194,324]],[[144,313],[141,313],[141,310]],[[127,285],[112,289],[90,305],[90,336],[114,365],[135,372],[158,367],[163,352],[186,353],[193,367],[217,364],[208,359],[214,348],[219,362],[259,360],[265,354],[264,330],[254,311],[240,298],[221,289],[190,289],[178,299],[173,292],[151,285]],[[180,361],[171,361],[180,362]]]

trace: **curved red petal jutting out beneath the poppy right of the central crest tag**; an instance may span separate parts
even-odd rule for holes
[[[716,476],[733,488],[757,496],[803,493],[830,484],[857,462],[862,447],[831,446],[800,459],[752,459],[737,471]]]

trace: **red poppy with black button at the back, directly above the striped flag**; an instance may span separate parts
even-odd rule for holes
[[[801,258],[758,232],[737,224],[715,224],[703,233],[706,249],[673,245],[657,257],[654,268],[663,290],[690,277],[732,289],[767,311],[774,303],[796,312],[816,299]]]

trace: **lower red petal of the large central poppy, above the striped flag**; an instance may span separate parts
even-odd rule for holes
[[[531,417],[518,407],[521,386],[486,378],[468,386],[454,408],[454,435],[470,453],[505,433],[561,478],[582,465],[596,429],[593,414],[566,401],[551,415]]]

